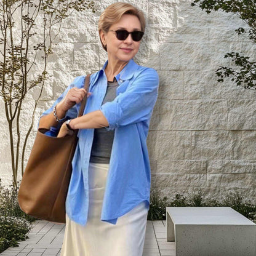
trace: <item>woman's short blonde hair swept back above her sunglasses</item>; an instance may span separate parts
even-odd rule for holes
[[[140,20],[142,31],[145,31],[146,20],[142,10],[132,6],[132,4],[128,4],[127,2],[115,2],[103,10],[102,14],[100,15],[98,20],[98,34],[100,34],[100,30],[108,31],[111,25],[118,23],[119,20],[121,20],[123,14],[132,14],[137,16],[138,20]],[[101,38],[100,42],[102,43]],[[102,47],[105,51],[107,51],[103,43]]]

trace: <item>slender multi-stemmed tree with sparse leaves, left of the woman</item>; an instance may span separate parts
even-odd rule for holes
[[[74,10],[91,9],[94,1],[87,0],[0,0],[0,97],[4,101],[9,127],[13,182],[17,186],[17,172],[22,146],[22,175],[26,142],[34,124],[34,114],[49,74],[47,64],[53,53],[53,43],[62,22]],[[42,20],[40,20],[40,18]],[[39,58],[41,57],[41,58]],[[41,64],[42,68],[38,68]],[[30,124],[23,145],[20,130],[22,106],[28,92],[39,88]]]

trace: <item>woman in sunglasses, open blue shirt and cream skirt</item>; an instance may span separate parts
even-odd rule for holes
[[[159,78],[133,60],[145,31],[141,10],[111,4],[98,31],[108,60],[90,76],[84,115],[76,118],[87,93],[79,76],[39,121],[58,137],[79,129],[61,256],[141,256],[150,206],[146,137]]]

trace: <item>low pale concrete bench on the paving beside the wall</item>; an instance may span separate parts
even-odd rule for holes
[[[231,207],[166,207],[176,256],[255,256],[256,224]]]

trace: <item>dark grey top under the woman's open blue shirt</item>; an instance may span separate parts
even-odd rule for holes
[[[102,104],[112,102],[116,98],[116,87],[119,84],[114,78],[113,82],[108,81],[108,87]],[[94,129],[94,140],[92,142],[92,151],[90,152],[90,162],[110,163],[110,154],[114,140],[114,130],[103,128]]]

